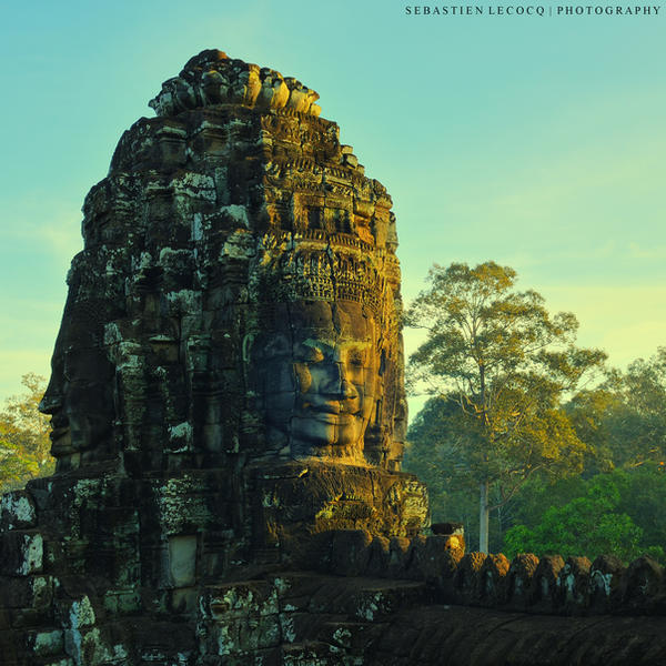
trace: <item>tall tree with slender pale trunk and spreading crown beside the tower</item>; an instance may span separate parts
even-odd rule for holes
[[[481,491],[482,552],[490,512],[534,473],[581,471],[585,445],[561,402],[606,357],[576,347],[576,317],[551,316],[538,293],[513,289],[515,279],[494,262],[435,264],[406,313],[407,325],[427,332],[410,357],[411,390],[457,405],[444,431]],[[500,493],[494,506],[491,484]]]

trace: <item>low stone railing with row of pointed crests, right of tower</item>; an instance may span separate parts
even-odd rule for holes
[[[555,615],[666,615],[664,569],[648,556],[628,566],[608,555],[592,563],[531,553],[508,561],[464,554],[457,535],[387,539],[354,529],[322,538],[326,573],[425,581],[436,603]]]

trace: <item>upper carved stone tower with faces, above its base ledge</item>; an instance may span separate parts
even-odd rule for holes
[[[391,200],[315,97],[203,51],[122,137],[85,201],[42,403],[60,471],[120,452],[400,468]]]

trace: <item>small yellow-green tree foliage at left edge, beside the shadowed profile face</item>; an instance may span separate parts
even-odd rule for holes
[[[0,493],[22,487],[54,468],[49,417],[37,408],[46,381],[28,373],[21,383],[27,393],[8,398],[0,411]]]

